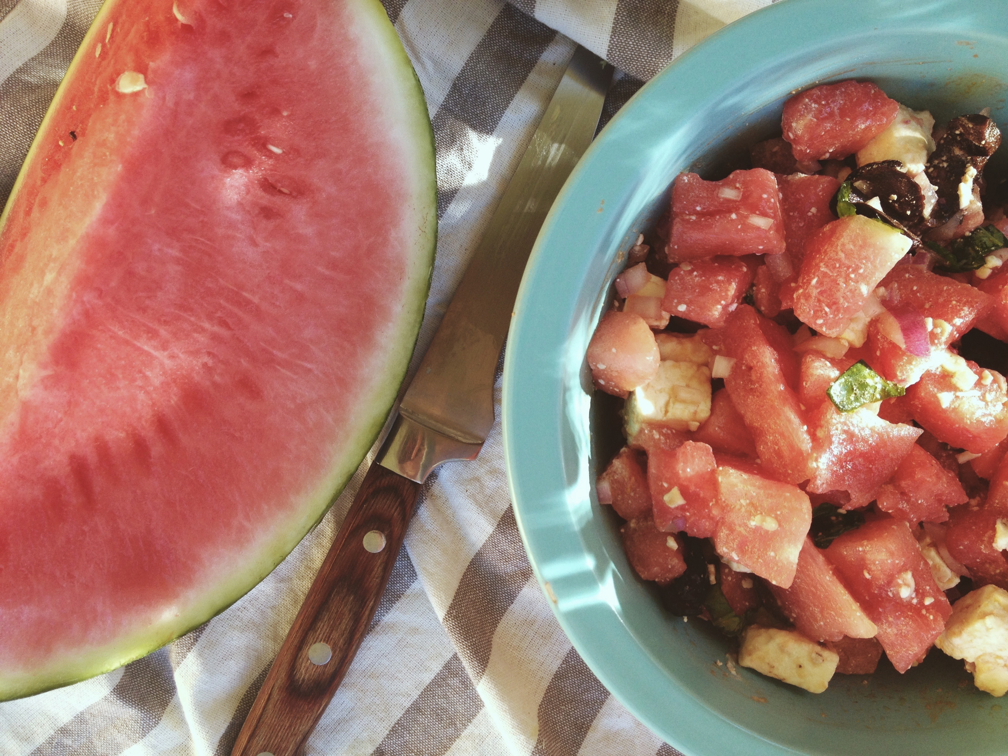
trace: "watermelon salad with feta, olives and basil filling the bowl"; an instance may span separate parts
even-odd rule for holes
[[[1008,691],[1008,195],[986,112],[814,87],[677,175],[588,349],[627,559],[739,663],[825,690],[937,646]],[[617,400],[618,401],[618,400]]]

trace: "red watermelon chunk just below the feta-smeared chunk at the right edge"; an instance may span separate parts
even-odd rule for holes
[[[896,473],[878,492],[879,509],[911,525],[918,522],[943,522],[947,507],[965,504],[970,497],[959,478],[914,444]]]

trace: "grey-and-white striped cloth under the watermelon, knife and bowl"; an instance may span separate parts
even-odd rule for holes
[[[607,120],[670,59],[768,2],[384,0],[436,141],[440,226],[421,353],[576,43],[618,69]],[[0,201],[99,5],[0,0]],[[229,754],[365,469],[219,617],[116,671],[0,704],[0,753]],[[495,425],[476,462],[446,465],[424,486],[370,632],[306,754],[676,753],[610,696],[553,618],[522,549]]]

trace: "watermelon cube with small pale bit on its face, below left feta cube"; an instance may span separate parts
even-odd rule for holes
[[[647,461],[647,481],[655,527],[711,537],[721,515],[716,469],[706,444],[690,440],[671,452],[654,452]]]

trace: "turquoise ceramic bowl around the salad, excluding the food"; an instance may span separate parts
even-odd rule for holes
[[[728,642],[666,614],[636,579],[595,494],[585,351],[625,251],[660,214],[677,172],[717,173],[779,134],[790,93],[851,78],[939,123],[989,107],[1008,132],[1008,5],[784,0],[731,24],[600,134],[546,219],[518,296],[503,420],[532,565],[602,682],[688,756],[1008,752],[1008,699],[977,691],[962,662],[936,650],[903,675],[888,665],[837,675],[820,696],[733,669]],[[1006,152],[989,170],[1005,170]]]

